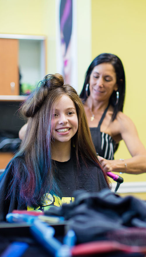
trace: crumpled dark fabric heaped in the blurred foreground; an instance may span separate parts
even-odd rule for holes
[[[51,207],[45,214],[64,216],[79,243],[107,239],[107,232],[118,229],[146,228],[146,204],[133,196],[122,198],[103,189],[99,193],[75,191],[74,197],[73,203]]]

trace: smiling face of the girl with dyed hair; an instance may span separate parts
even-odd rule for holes
[[[63,95],[55,106],[53,138],[56,141],[68,142],[78,129],[78,117],[74,102]]]

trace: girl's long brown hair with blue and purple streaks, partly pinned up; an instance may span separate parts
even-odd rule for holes
[[[8,195],[17,186],[20,192],[18,201],[29,206],[39,205],[44,192],[60,193],[51,160],[51,142],[55,104],[62,95],[67,95],[77,110],[78,130],[72,138],[72,146],[75,147],[78,168],[79,156],[85,165],[90,160],[100,167],[109,186],[108,177],[97,159],[84,106],[76,90],[65,84],[60,74],[49,74],[20,109],[23,116],[28,118],[28,126],[20,150],[9,164],[14,176]]]

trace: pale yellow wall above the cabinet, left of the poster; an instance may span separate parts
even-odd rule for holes
[[[46,72],[56,72],[55,0],[0,0],[0,33],[46,36]]]

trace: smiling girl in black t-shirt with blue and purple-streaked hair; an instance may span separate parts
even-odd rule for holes
[[[21,107],[28,125],[0,182],[0,220],[13,209],[47,210],[73,201],[73,192],[108,188],[84,107],[60,74],[47,75]]]

